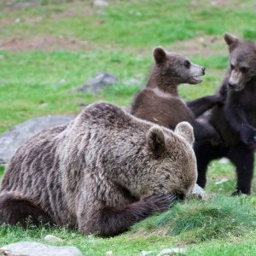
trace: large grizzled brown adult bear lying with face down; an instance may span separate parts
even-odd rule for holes
[[[114,236],[188,195],[197,178],[193,128],[170,131],[108,103],[32,137],[3,177],[0,224],[40,221]]]

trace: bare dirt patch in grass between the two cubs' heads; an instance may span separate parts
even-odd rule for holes
[[[226,55],[222,36],[202,36],[185,41],[177,41],[166,47],[170,51],[177,51],[183,55]]]

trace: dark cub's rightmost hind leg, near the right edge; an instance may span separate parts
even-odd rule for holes
[[[231,162],[236,166],[236,190],[232,195],[251,194],[253,179],[253,150],[240,144],[231,148],[229,153]]]

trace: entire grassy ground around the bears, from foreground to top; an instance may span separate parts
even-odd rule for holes
[[[222,34],[229,31],[256,40],[255,1],[112,1],[106,9],[90,1],[8,3],[0,1],[0,133],[35,116],[79,113],[81,103],[105,100],[129,106],[139,87],[128,82],[145,83],[157,45],[207,67],[204,82],[180,86],[181,96],[212,94],[228,64]],[[119,83],[97,95],[72,92],[102,71],[115,74]],[[0,168],[0,179],[2,173]],[[165,247],[188,247],[189,255],[253,255],[256,193],[229,197],[236,181],[229,162],[212,162],[208,173],[207,190],[224,196],[177,204],[122,236],[102,239],[76,230],[2,227],[0,246],[44,241],[52,234],[84,255],[109,250],[138,255]],[[216,183],[223,178],[228,180]]]

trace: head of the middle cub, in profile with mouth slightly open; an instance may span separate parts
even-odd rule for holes
[[[172,84],[199,84],[205,74],[205,67],[193,64],[177,53],[166,52],[162,47],[154,49],[154,72]]]

